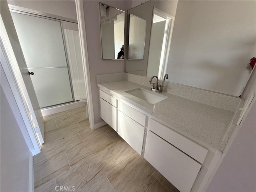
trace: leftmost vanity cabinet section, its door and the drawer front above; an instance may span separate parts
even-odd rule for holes
[[[100,117],[117,132],[117,100],[100,90]]]

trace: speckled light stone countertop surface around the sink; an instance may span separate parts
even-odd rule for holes
[[[225,136],[234,117],[234,112],[167,92],[157,94],[168,98],[156,104],[150,104],[126,93],[128,90],[136,88],[145,90],[150,90],[150,88],[129,81],[100,83],[98,87],[173,126],[180,134],[186,133],[220,151],[224,150],[228,142]]]

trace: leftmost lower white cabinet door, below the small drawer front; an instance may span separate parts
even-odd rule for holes
[[[116,110],[117,109],[114,106],[110,105],[108,102],[100,98],[100,117],[115,131],[117,131]]]

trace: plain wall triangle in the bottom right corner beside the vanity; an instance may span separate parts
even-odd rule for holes
[[[210,182],[207,192],[256,191],[255,128],[256,102]]]

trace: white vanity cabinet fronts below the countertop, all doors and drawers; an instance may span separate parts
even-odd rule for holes
[[[136,106],[99,91],[101,118],[136,152],[181,192],[206,189],[218,150],[202,146]]]

